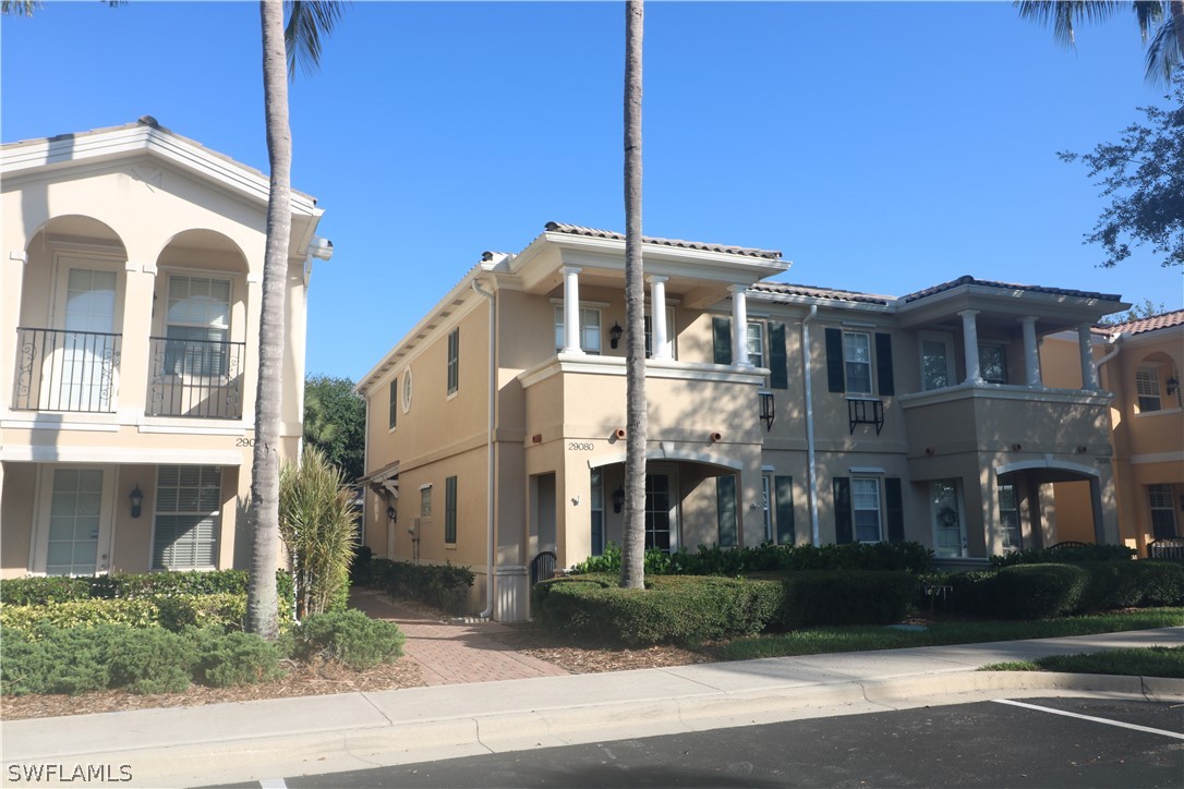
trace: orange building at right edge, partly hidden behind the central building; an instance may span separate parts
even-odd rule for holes
[[[1063,336],[1049,337],[1042,356],[1057,386],[1080,386],[1080,367]],[[1140,555],[1157,539],[1184,536],[1184,310],[1098,326],[1093,354],[1102,384],[1114,393],[1109,420],[1114,445],[1118,519],[1122,541]],[[1080,485],[1057,486],[1062,533],[1073,535],[1086,506]]]

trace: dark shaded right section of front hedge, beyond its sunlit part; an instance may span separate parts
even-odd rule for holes
[[[802,571],[783,576],[783,601],[774,626],[890,625],[908,613],[916,578],[880,570]]]

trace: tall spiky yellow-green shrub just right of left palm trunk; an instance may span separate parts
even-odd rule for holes
[[[315,447],[279,472],[279,536],[296,589],[296,617],[346,607],[356,542],[352,491]]]

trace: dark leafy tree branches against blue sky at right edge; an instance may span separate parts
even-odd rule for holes
[[[1143,106],[1146,124],[1133,123],[1121,141],[1100,143],[1092,153],[1062,151],[1066,162],[1081,160],[1111,203],[1086,234],[1087,244],[1106,250],[1109,269],[1131,256],[1131,245],[1147,244],[1160,265],[1184,265],[1184,72],[1172,78],[1173,105]]]

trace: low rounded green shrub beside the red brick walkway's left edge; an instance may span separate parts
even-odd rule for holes
[[[403,654],[406,638],[394,622],[371,619],[360,610],[313,614],[292,633],[292,655],[301,660],[322,657],[354,671],[393,662]]]

